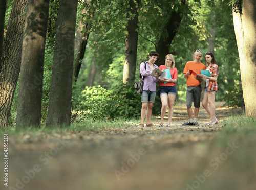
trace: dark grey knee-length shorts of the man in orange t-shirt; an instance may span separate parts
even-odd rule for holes
[[[187,108],[192,107],[193,100],[194,100],[194,106],[196,108],[200,107],[201,92],[202,92],[201,84],[198,86],[187,86],[187,93],[186,93]]]

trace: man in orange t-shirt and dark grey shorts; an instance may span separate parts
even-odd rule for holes
[[[201,63],[201,58],[203,57],[203,51],[197,50],[194,53],[195,60],[194,61],[188,61],[185,65],[185,68],[183,70],[184,77],[187,79],[187,91],[186,91],[186,106],[187,106],[187,113],[189,121],[185,122],[182,125],[199,125],[197,122],[197,117],[199,114],[199,108],[200,108],[200,100],[201,100],[201,81],[202,79],[199,77],[196,77],[194,75],[191,75],[190,70],[194,70],[197,74],[200,74],[200,70],[205,70],[206,66]],[[194,100],[194,120],[193,120],[193,110],[192,110],[192,102]]]

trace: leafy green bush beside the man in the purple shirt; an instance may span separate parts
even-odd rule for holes
[[[140,116],[140,94],[133,83],[119,84],[109,89],[99,86],[86,87],[81,109],[83,118],[130,118]]]

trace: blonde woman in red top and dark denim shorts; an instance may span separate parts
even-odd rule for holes
[[[161,108],[161,121],[160,127],[163,126],[163,118],[167,110],[168,106],[168,122],[167,127],[170,127],[170,122],[172,121],[173,112],[174,112],[174,100],[177,94],[177,90],[175,84],[177,83],[178,79],[178,71],[175,68],[175,60],[172,54],[168,54],[165,56],[165,65],[160,65],[160,70],[165,70],[167,73],[166,77],[168,77],[168,72],[171,76],[166,78],[159,77],[160,81],[160,98],[162,102]]]

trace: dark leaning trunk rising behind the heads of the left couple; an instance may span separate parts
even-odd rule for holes
[[[185,3],[186,1],[183,0],[182,5],[185,5]],[[159,53],[159,56],[155,64],[157,64],[158,66],[164,65],[165,56],[169,54],[170,44],[172,43],[176,33],[178,32],[181,19],[181,12],[179,12],[179,10],[178,12],[173,10],[172,13],[170,13],[169,15],[166,25],[163,27],[162,34],[156,44],[156,51]]]

